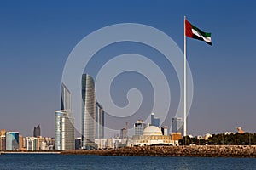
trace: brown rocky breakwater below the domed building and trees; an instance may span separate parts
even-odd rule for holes
[[[198,157],[253,157],[256,146],[204,145],[204,146],[145,146],[126,147],[101,153],[102,156],[198,156]]]

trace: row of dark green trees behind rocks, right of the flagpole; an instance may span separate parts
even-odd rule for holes
[[[256,133],[236,133],[236,134],[213,134],[209,139],[190,138],[189,136],[183,137],[179,140],[180,145],[254,145],[256,144]]]

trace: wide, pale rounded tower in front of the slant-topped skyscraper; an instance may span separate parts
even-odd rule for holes
[[[55,150],[74,150],[74,119],[69,111],[55,111]]]

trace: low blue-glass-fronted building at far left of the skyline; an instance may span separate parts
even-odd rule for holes
[[[7,132],[5,133],[5,150],[19,150],[19,133]]]

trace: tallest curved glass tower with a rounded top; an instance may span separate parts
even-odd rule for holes
[[[96,139],[96,95],[94,80],[90,75],[82,76],[82,148]]]

